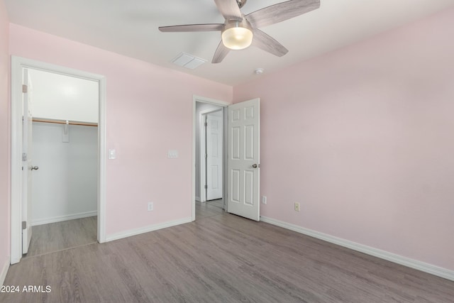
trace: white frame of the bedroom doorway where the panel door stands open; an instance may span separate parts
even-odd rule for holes
[[[196,103],[201,102],[201,103],[208,103],[208,104],[214,104],[217,106],[222,106],[226,108],[227,106],[231,105],[231,102],[227,101],[221,101],[221,100],[216,100],[216,99],[210,99],[206,97],[201,97],[201,96],[196,96],[194,95],[192,97],[192,221],[195,221],[196,219],[196,124],[199,123],[199,116],[197,116],[196,113]],[[225,112],[225,110],[224,110]],[[225,122],[224,122],[225,123]],[[224,141],[225,142],[225,141]],[[224,152],[224,157],[227,155],[227,145],[224,144],[223,146],[223,152]],[[223,174],[225,176],[225,167],[223,169]],[[224,181],[225,182],[225,177]],[[223,196],[225,196],[226,193],[224,192]],[[225,197],[223,197],[225,199]]]

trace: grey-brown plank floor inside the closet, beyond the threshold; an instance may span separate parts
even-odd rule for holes
[[[96,216],[90,216],[33,226],[30,248],[24,258],[96,243],[96,220]]]

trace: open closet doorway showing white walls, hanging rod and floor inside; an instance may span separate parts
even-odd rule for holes
[[[33,236],[26,257],[96,243],[98,82],[27,69],[33,111]]]

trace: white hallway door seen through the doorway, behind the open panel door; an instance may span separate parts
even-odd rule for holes
[[[222,198],[222,111],[206,115],[206,199]]]

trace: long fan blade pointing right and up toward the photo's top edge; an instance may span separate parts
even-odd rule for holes
[[[261,28],[319,9],[320,0],[289,0],[249,13],[245,18],[253,28]]]

